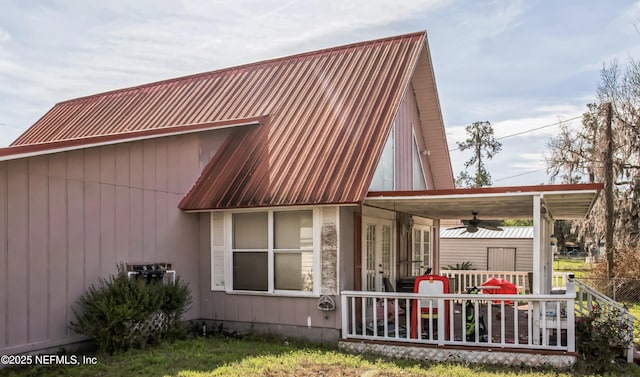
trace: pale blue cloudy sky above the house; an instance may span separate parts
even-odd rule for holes
[[[421,30],[454,175],[489,121],[493,185],[546,184],[557,123],[640,59],[640,0],[0,0],[0,147],[64,100]]]

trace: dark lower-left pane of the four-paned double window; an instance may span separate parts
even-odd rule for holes
[[[269,268],[266,252],[233,253],[233,289],[266,291]]]

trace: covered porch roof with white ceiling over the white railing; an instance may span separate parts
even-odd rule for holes
[[[563,220],[585,217],[602,188],[602,184],[594,183],[380,191],[370,192],[364,204],[433,219],[468,219],[472,212],[477,212],[479,219],[530,219],[533,198],[540,195],[547,213]]]

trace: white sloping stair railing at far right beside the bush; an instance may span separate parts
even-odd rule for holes
[[[619,316],[621,328],[623,325],[626,326],[629,331],[629,339],[633,339],[633,328],[636,318],[631,315],[627,308],[581,281],[576,281],[576,288],[576,314],[588,317],[596,307],[599,307],[604,314],[616,313]],[[627,349],[627,362],[633,362],[634,351],[633,342],[631,342]]]

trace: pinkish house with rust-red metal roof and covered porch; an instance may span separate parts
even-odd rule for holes
[[[424,32],[61,102],[0,149],[0,351],[83,340],[71,307],[119,262],[170,264],[191,319],[376,345],[372,300],[438,266],[440,219],[470,206],[534,219],[538,313],[551,214],[584,216],[600,187],[454,189]],[[575,359],[531,334],[511,347]]]

